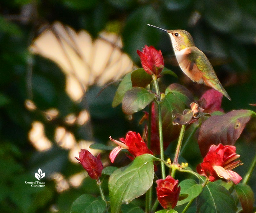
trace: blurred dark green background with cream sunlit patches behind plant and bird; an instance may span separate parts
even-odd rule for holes
[[[120,106],[111,107],[117,83],[99,94],[104,85],[141,66],[137,49],[161,49],[165,66],[178,75],[166,76],[162,89],[178,82],[197,98],[208,89],[180,71],[168,35],[147,24],[190,32],[232,99],[223,98],[224,111],[255,110],[249,106],[256,103],[255,11],[253,0],[2,0],[1,212],[69,212],[79,195],[99,195],[96,181],[74,156],[94,142],[111,145],[110,135],[142,133],[142,112],[128,117]],[[252,119],[236,142],[244,163],[236,171],[242,177],[255,154],[255,131]],[[184,161],[195,168],[202,161],[195,139],[188,150]],[[104,166],[110,165],[108,154],[101,155]],[[129,162],[121,155],[115,165]],[[36,181],[39,168],[45,187],[25,184]],[[255,178],[253,172],[248,183],[254,192]],[[107,181],[103,187],[107,192]]]

